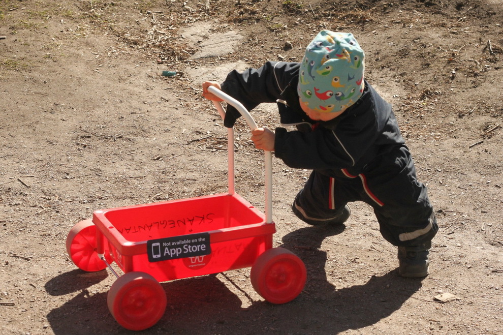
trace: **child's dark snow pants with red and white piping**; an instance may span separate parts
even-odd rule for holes
[[[438,231],[426,186],[418,181],[406,146],[380,156],[358,175],[344,177],[312,171],[295,201],[315,219],[334,217],[347,203],[372,206],[383,237],[394,246],[429,249]]]

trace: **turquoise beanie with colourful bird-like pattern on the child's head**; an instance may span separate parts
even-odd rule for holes
[[[318,112],[345,110],[362,96],[364,69],[364,53],[353,34],[320,32],[300,65],[301,102]]]

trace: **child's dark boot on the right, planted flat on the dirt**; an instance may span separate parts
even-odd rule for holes
[[[398,274],[406,278],[428,276],[429,251],[418,248],[398,247]]]

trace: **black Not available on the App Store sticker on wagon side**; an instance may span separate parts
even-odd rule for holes
[[[147,241],[149,262],[211,254],[209,233],[198,233]]]

